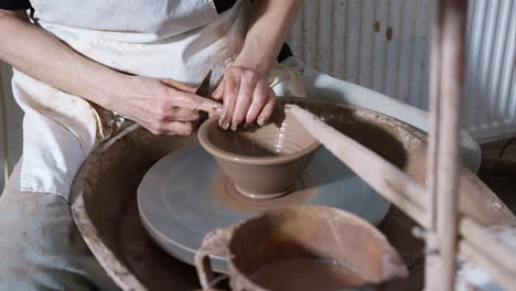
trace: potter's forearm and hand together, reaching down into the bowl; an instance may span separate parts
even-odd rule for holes
[[[300,0],[254,1],[244,46],[226,71],[213,97],[224,100],[222,128],[258,120],[264,125],[272,114],[275,94],[264,76],[277,62],[278,53],[295,20]]]

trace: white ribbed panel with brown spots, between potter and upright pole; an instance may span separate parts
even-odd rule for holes
[[[305,0],[290,43],[319,71],[427,108],[432,3]]]

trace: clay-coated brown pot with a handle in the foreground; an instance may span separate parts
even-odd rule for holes
[[[284,289],[275,288],[270,281],[258,277],[265,272],[261,271],[265,266],[289,261],[329,262],[335,265],[331,266],[332,271],[337,267],[346,270],[347,281],[340,283],[348,285],[338,288],[356,288],[408,276],[398,252],[378,229],[354,214],[326,206],[276,208],[208,233],[195,256],[204,290],[209,290],[214,280],[209,255],[228,259],[229,284],[234,291]],[[284,281],[289,273],[277,276]],[[303,278],[301,273],[297,276]]]

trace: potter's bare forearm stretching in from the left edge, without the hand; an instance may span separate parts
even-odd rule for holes
[[[106,106],[106,84],[123,74],[95,63],[31,24],[20,12],[0,11],[0,60],[61,90]]]

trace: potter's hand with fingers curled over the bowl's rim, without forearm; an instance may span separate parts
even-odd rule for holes
[[[276,96],[267,79],[254,69],[229,67],[212,96],[224,101],[218,125],[223,129],[236,130],[238,125],[262,126],[272,114]]]

